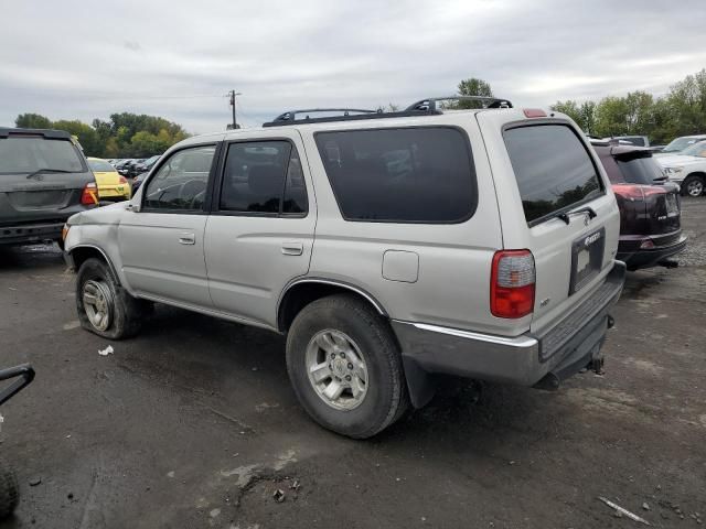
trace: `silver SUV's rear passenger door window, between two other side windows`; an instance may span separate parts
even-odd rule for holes
[[[297,149],[288,141],[232,143],[220,208],[242,213],[307,213],[307,187]]]

